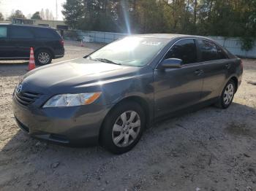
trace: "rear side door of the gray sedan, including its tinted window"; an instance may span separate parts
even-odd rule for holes
[[[227,71],[231,65],[225,52],[214,42],[197,39],[197,44],[200,50],[200,62],[204,71],[201,98],[202,101],[206,101],[219,96],[227,79]]]

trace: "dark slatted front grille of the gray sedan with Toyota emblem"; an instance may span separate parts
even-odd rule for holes
[[[28,106],[29,104],[34,103],[39,97],[39,93],[23,92],[23,93],[14,93],[15,99],[22,104],[23,106]]]

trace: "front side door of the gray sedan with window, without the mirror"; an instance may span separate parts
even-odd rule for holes
[[[197,61],[194,39],[181,39],[167,52],[163,60],[178,58],[183,61],[179,69],[154,71],[154,102],[156,117],[197,104],[203,88],[203,66]]]

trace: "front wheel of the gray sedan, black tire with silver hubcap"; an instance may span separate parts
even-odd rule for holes
[[[123,102],[106,116],[100,144],[114,154],[128,152],[138,144],[145,127],[146,117],[141,106],[134,101]]]

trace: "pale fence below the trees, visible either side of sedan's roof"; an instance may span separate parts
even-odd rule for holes
[[[100,32],[100,31],[78,31],[79,39],[83,39],[83,36],[88,36],[89,42],[110,43],[116,39],[120,39],[128,34]],[[239,55],[246,58],[256,58],[256,43],[252,50],[241,50],[241,40],[239,38],[225,38],[222,36],[209,36],[216,42],[227,48],[234,55]]]

